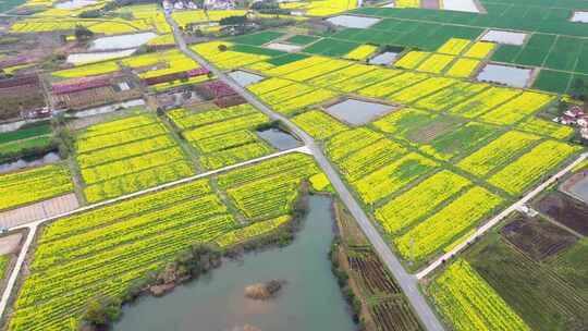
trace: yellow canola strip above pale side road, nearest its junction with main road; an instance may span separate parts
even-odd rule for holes
[[[421,260],[452,243],[452,240],[476,225],[503,203],[482,187],[474,187],[457,197],[426,221],[394,240],[406,259]]]

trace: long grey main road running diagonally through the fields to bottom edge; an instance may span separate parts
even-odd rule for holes
[[[310,137],[306,132],[302,131],[298,126],[296,126],[292,121],[290,121],[287,118],[275,113],[273,110],[271,110],[269,107],[267,107],[265,103],[259,101],[257,97],[255,97],[253,94],[250,94],[248,90],[240,86],[234,79],[225,75],[222,71],[218,70],[216,66],[210,64],[208,61],[206,61],[203,57],[192,51],[187,46],[186,42],[182,36],[182,33],[180,28],[177,27],[177,24],[171,20],[171,17],[167,16],[168,23],[173,27],[173,34],[175,37],[175,41],[180,49],[186,53],[188,57],[200,63],[204,68],[210,70],[217,77],[224,81],[226,84],[229,84],[234,90],[236,90],[242,97],[244,97],[250,105],[255,106],[257,109],[266,113],[268,117],[272,118],[273,120],[280,120],[282,123],[284,123],[289,130],[291,130],[294,134],[296,134],[298,137],[303,139],[305,145],[313,151],[313,155],[317,161],[317,163],[320,166],[322,171],[328,175],[329,180],[331,181],[331,184],[333,185],[334,189],[338,192],[341,200],[345,204],[350,212],[353,214],[353,217],[357,220],[359,223],[359,226],[365,232],[368,240],[373,245],[376,252],[380,256],[380,258],[383,260],[388,269],[394,274],[394,278],[399,282],[400,286],[402,287],[402,291],[404,294],[408,297],[408,301],[413,308],[415,309],[416,314],[419,316],[420,320],[422,321],[422,324],[427,328],[427,330],[431,331],[438,331],[443,330],[443,327],[439,322],[437,316],[433,314],[431,308],[429,307],[427,301],[418,290],[417,279],[414,275],[408,274],[402,265],[400,263],[396,256],[390,250],[390,247],[384,243],[373,224],[370,222],[359,204],[355,200],[353,195],[347,189],[347,186],[343,184],[341,181],[341,177],[335,172],[329,160],[324,157],[322,154],[322,150],[315,144],[315,140],[313,137]]]

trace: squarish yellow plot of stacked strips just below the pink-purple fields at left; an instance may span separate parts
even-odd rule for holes
[[[149,115],[93,125],[77,135],[76,148],[90,203],[194,174],[166,126]]]

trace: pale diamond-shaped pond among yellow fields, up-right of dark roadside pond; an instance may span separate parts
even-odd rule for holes
[[[394,106],[347,99],[327,108],[331,115],[352,125],[362,125],[396,109]]]

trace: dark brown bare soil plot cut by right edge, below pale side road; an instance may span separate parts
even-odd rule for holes
[[[537,204],[537,210],[583,235],[588,235],[588,206],[561,192],[553,192]]]

